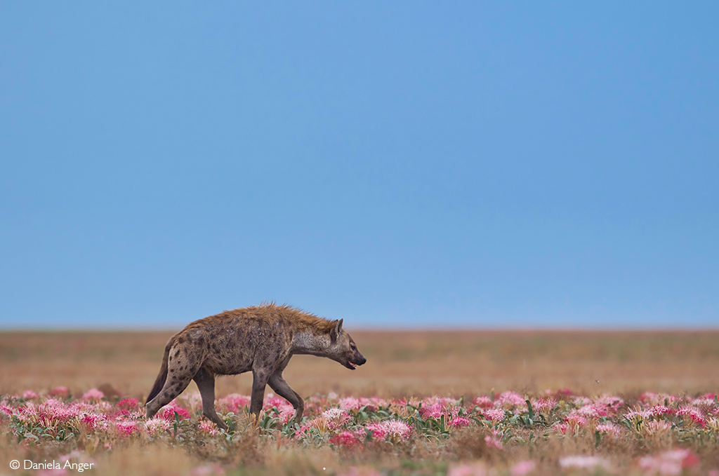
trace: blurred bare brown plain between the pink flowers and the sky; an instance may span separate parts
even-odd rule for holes
[[[104,386],[142,401],[173,332],[2,332],[0,393],[72,393]],[[285,380],[302,396],[467,396],[716,392],[719,331],[355,331],[367,364],[347,370],[298,355]],[[216,396],[249,394],[249,373],[220,378]],[[194,383],[186,391],[196,391]]]

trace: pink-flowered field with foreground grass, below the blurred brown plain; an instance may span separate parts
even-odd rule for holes
[[[719,475],[719,397],[569,390],[467,398],[219,398],[220,431],[186,392],[145,420],[136,398],[91,388],[0,396],[0,474]],[[32,462],[10,470],[12,459]],[[44,466],[43,466],[44,465]]]

